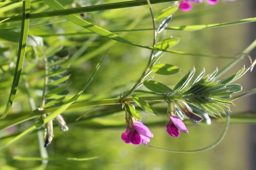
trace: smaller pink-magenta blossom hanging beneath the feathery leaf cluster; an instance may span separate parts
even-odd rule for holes
[[[166,131],[169,135],[178,137],[180,136],[180,130],[189,133],[189,130],[186,128],[185,124],[176,116],[170,116],[170,122],[166,125]]]

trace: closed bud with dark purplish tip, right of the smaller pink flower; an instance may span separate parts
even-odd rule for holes
[[[193,113],[192,109],[189,107],[189,105],[186,104],[186,102],[175,100],[175,103],[180,108],[180,110],[192,121],[194,122],[200,122],[204,118],[199,116],[198,114]]]

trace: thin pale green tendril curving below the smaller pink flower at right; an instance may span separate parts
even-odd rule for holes
[[[174,153],[195,153],[195,152],[201,152],[201,151],[204,151],[204,150],[209,150],[209,149],[212,149],[213,147],[217,146],[219,143],[221,143],[221,141],[224,139],[224,137],[227,134],[229,124],[230,124],[230,111],[227,112],[225,128],[224,128],[221,136],[218,138],[218,140],[216,142],[214,142],[213,144],[211,144],[207,147],[200,148],[200,149],[195,149],[195,150],[172,150],[172,149],[167,149],[167,148],[163,148],[163,147],[156,147],[156,146],[151,146],[151,145],[148,145],[148,147],[152,147],[152,148],[158,149],[158,150],[165,150],[167,152],[174,152]]]

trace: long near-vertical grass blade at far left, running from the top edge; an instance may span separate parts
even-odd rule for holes
[[[13,82],[12,82],[12,89],[9,95],[8,102],[6,104],[6,108],[3,114],[1,115],[0,119],[4,119],[7,116],[10,108],[12,107],[12,103],[15,98],[15,94],[17,92],[17,88],[19,85],[20,74],[22,71],[23,61],[25,57],[26,41],[27,41],[28,30],[29,30],[30,0],[23,1],[22,10],[23,10],[23,14],[22,14],[22,22],[21,22],[21,30],[20,30],[20,42],[18,47],[15,73],[14,73]]]

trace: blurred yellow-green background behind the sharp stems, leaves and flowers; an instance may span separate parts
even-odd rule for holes
[[[100,3],[118,2],[116,0],[104,1],[82,1],[82,0],[61,0],[59,1],[67,8],[72,8],[71,4],[76,6],[90,6]],[[171,6],[172,3],[163,3],[153,5],[154,13],[157,14],[163,8]],[[241,20],[255,16],[254,0],[237,0],[235,2],[219,2],[217,5],[209,6],[204,4],[193,4],[193,9],[183,13],[177,11],[169,26],[194,25],[207,23],[221,23]],[[9,16],[16,14],[21,8],[13,11],[0,12],[0,16]],[[43,2],[32,3],[32,13],[50,11],[51,9]],[[16,12],[16,13],[15,13]],[[47,22],[56,22],[65,20],[64,17],[52,17],[41,20],[31,20],[30,24],[40,24]],[[108,11],[90,12],[86,14],[86,20],[96,25],[102,26],[108,30],[128,29],[129,25],[137,20],[136,26],[131,29],[151,28],[151,18],[147,6],[115,9]],[[158,25],[159,23],[157,23]],[[6,23],[1,27],[19,26],[20,22]],[[158,40],[168,37],[180,38],[180,42],[174,48],[179,51],[193,52],[199,54],[216,54],[233,56],[243,51],[255,38],[255,24],[241,24],[236,26],[227,26],[212,28],[202,31],[172,31],[166,30],[158,37]],[[15,31],[19,31],[16,29]],[[84,43],[88,42],[93,34],[79,34],[69,36],[49,36],[49,34],[67,34],[83,32],[80,28],[69,21],[50,24],[47,26],[35,26],[29,28],[29,34],[42,36],[44,38],[45,49],[49,50],[58,45],[63,45],[58,55],[72,56]],[[118,32],[122,35],[124,33]],[[46,36],[48,35],[48,36]],[[151,45],[152,31],[131,31],[123,35],[132,42]],[[70,96],[77,93],[89,78],[94,66],[99,58],[106,54],[105,60],[93,80],[90,87],[81,97],[83,100],[104,99],[116,97],[122,91],[128,90],[143,72],[148,61],[150,50],[121,44],[113,40],[102,37],[95,37],[95,41],[90,43],[89,48],[77,59],[70,63],[71,85],[69,88]],[[14,56],[17,51],[17,43],[1,42],[1,45],[8,46],[9,56]],[[6,54],[5,54],[6,55]],[[35,55],[31,47],[27,48],[25,62],[25,72],[30,62],[35,60]],[[167,85],[175,83],[186,74],[186,72],[195,66],[197,73],[206,68],[207,73],[213,71],[216,67],[219,69],[227,65],[230,59],[213,59],[206,57],[191,57],[167,53],[160,60],[162,63],[177,65],[183,69],[180,74],[171,76],[155,75],[156,81]],[[233,67],[226,75],[239,70],[243,65],[248,65],[247,59],[242,60]],[[27,73],[29,74],[29,73]],[[33,75],[33,73],[30,73]],[[11,81],[12,73],[3,77],[2,82],[8,79]],[[243,86],[244,91],[255,87],[255,74],[246,74],[237,81]],[[4,81],[5,80],[5,81]],[[39,105],[43,85],[43,77],[36,75],[29,79],[37,105]],[[143,89],[143,88],[141,88]],[[1,88],[0,111],[3,111],[8,99],[10,87]],[[245,113],[252,111],[253,98],[243,98],[235,102],[231,110],[235,113]],[[167,105],[163,104],[163,107]],[[254,106],[255,107],[255,106]],[[102,107],[105,109],[108,107]],[[76,109],[65,112],[64,118],[67,119],[67,125],[70,130],[61,132],[58,127],[54,130],[54,140],[47,147],[49,157],[94,157],[99,159],[90,161],[49,161],[47,170],[254,170],[256,168],[255,157],[255,133],[253,125],[231,124],[227,136],[217,147],[200,153],[169,153],[162,150],[145,147],[144,145],[134,146],[122,142],[120,136],[125,130],[124,112],[117,112],[102,118],[85,119],[90,114],[84,116],[84,119],[76,123],[74,120],[81,114],[92,108]],[[23,82],[20,82],[17,96],[14,101],[12,113],[29,111],[29,102],[26,96]],[[91,113],[92,114],[92,113]],[[96,114],[99,114],[97,112]],[[153,120],[164,120],[163,116],[151,116],[142,112],[143,122]],[[12,117],[9,116],[9,119]],[[32,125],[33,121],[22,123],[15,127],[16,131],[22,131]],[[112,128],[109,124],[120,125]],[[106,126],[104,126],[106,125]],[[123,127],[122,127],[123,125]],[[105,128],[106,127],[106,128]],[[108,128],[107,128],[108,127]],[[205,147],[212,144],[220,136],[224,124],[212,123],[212,125],[189,126],[189,134],[182,133],[179,138],[174,138],[166,133],[165,124],[150,127],[154,133],[150,145],[166,147],[177,150],[190,150]],[[1,136],[8,135],[12,129],[1,132]],[[8,140],[8,139],[7,139]],[[1,141],[0,141],[1,142]],[[254,148],[254,149],[253,149]],[[36,156],[40,157],[37,134],[32,133],[15,144],[0,150],[0,170],[18,170],[18,169],[36,169],[41,161],[17,161],[10,156]]]

